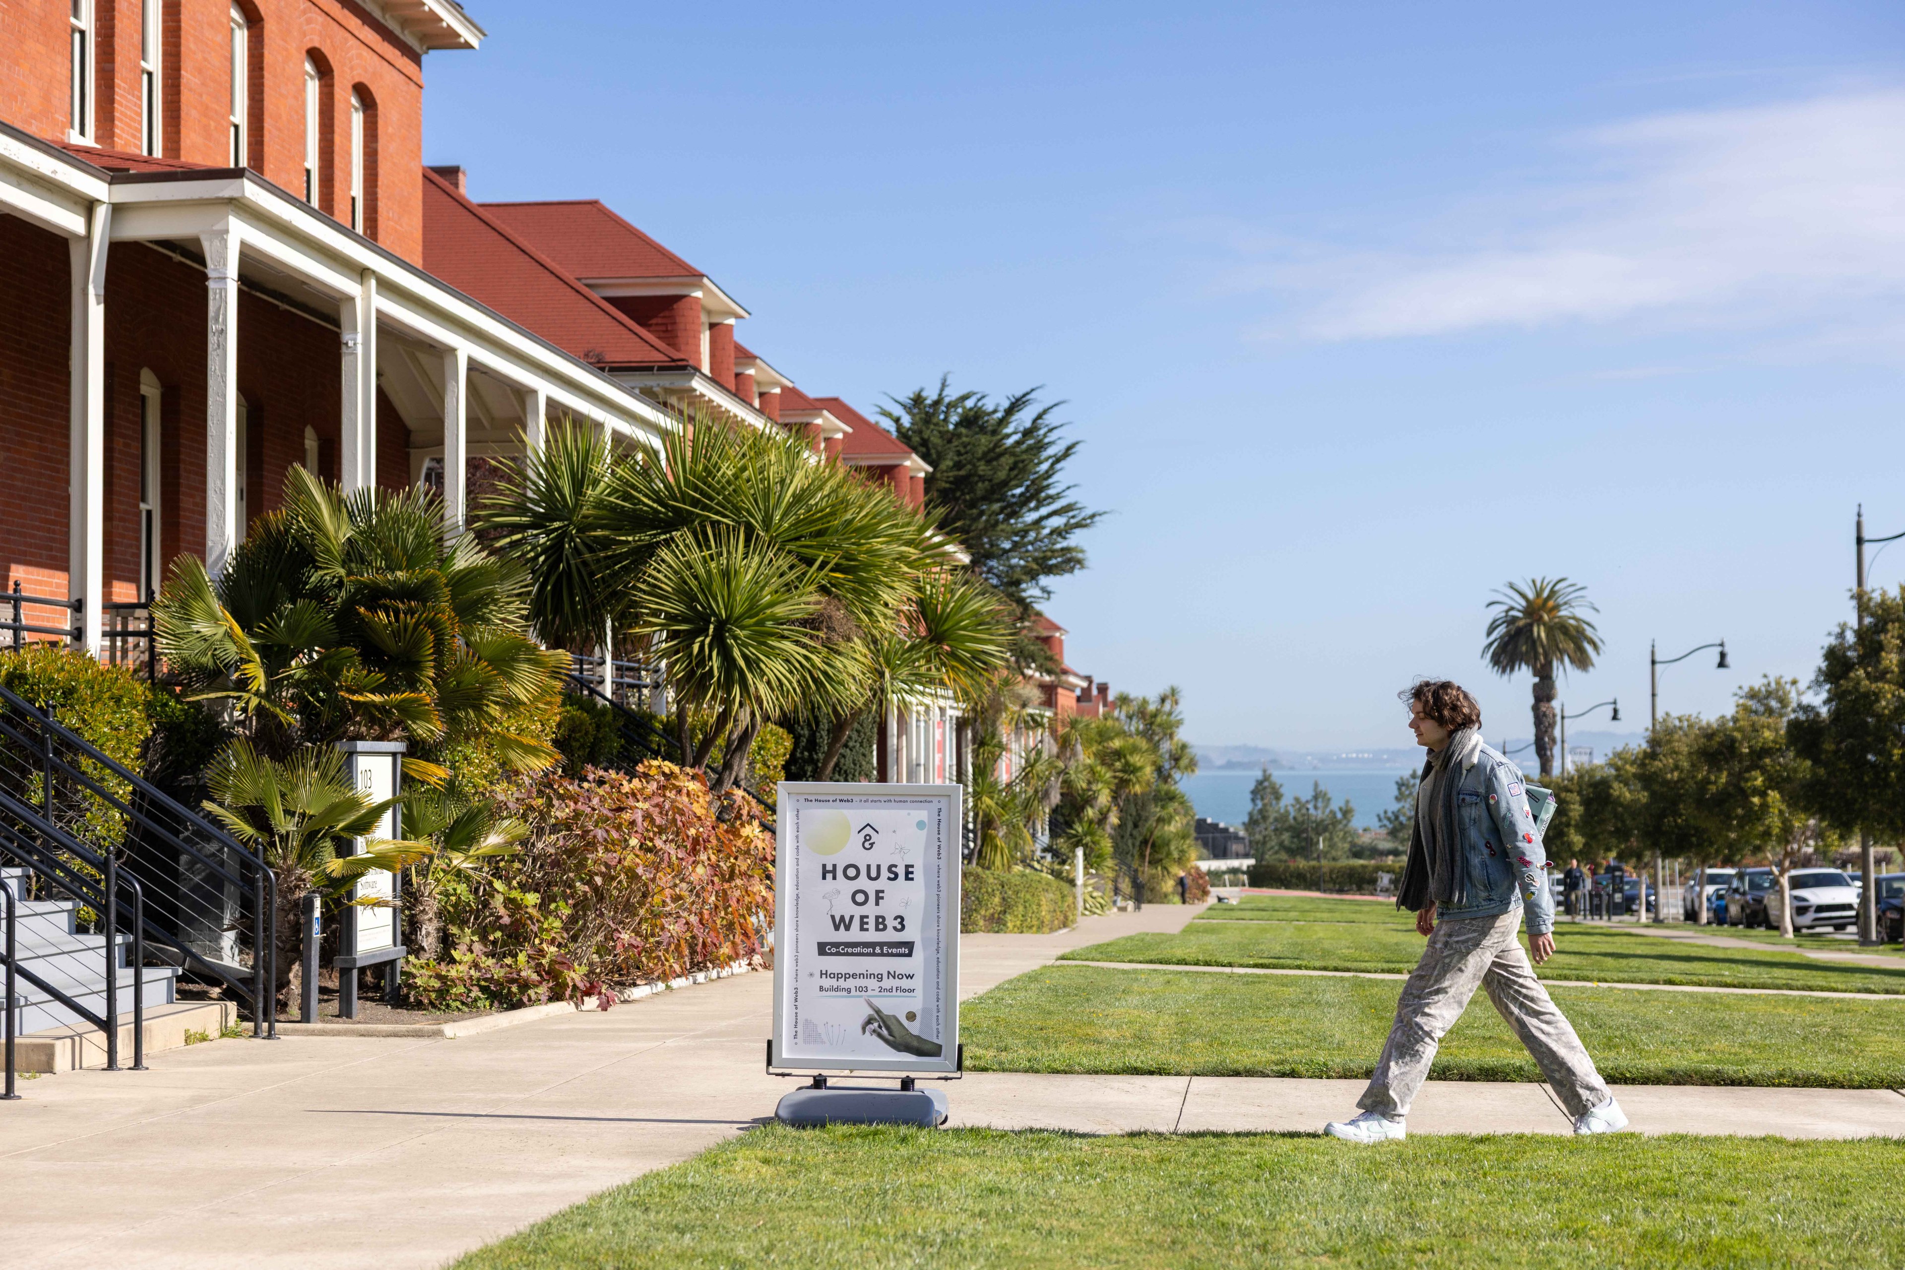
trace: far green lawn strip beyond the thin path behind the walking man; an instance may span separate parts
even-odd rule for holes
[[[1562,923],[1554,948],[1539,969],[1543,979],[1905,994],[1905,965],[1848,965],[1785,948],[1714,948],[1591,923]],[[1421,950],[1414,916],[1387,904],[1274,897],[1267,906],[1208,910],[1181,935],[1126,935],[1067,952],[1065,960],[1400,975],[1414,969]]]

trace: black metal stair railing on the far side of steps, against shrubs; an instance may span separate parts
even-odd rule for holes
[[[276,1036],[276,878],[271,868],[223,828],[59,724],[51,710],[40,710],[0,687],[0,783],[15,784],[23,794],[29,779],[40,783],[38,802],[44,813],[19,794],[0,804],[0,813],[27,824],[44,819],[67,843],[84,847],[74,855],[91,868],[103,870],[110,861],[122,878],[130,876],[141,887],[139,941],[150,939],[170,950],[183,969],[232,988],[251,1007],[253,1034]],[[65,804],[63,792],[69,796]],[[122,819],[124,842],[99,842],[101,828],[91,815],[99,809]],[[46,853],[40,859],[44,863]],[[229,916],[223,906],[192,912],[183,876],[187,866],[198,872],[202,885],[229,887],[236,912]],[[150,883],[158,883],[162,893],[170,887],[170,903],[158,904],[158,912],[149,912],[143,903],[143,891]],[[250,916],[244,912],[246,899]],[[194,948],[181,929],[189,916],[210,929],[248,931],[250,975],[242,973],[244,967],[217,962]]]

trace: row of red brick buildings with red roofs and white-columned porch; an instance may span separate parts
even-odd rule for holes
[[[926,463],[735,339],[703,268],[596,200],[478,204],[425,168],[423,59],[482,40],[455,0],[0,6],[0,586],[53,602],[21,605],[34,634],[114,651],[293,463],[427,480],[455,524],[551,417],[781,427],[922,505]],[[951,703],[897,712],[886,777],[956,775],[954,733]]]

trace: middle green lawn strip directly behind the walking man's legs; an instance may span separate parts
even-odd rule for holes
[[[1048,965],[960,1007],[979,1072],[1335,1076],[1372,1072],[1402,984]],[[1617,1083],[1905,1085],[1905,1002],[1554,988]],[[1539,1080],[1484,994],[1448,1034],[1438,1080]]]

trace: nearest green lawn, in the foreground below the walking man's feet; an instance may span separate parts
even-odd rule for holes
[[[1901,1186],[1895,1141],[768,1127],[455,1264],[1836,1270],[1905,1262]]]

